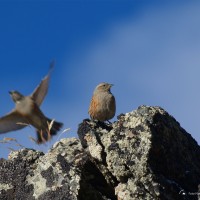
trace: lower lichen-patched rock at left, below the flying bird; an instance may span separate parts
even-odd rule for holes
[[[45,155],[30,149],[12,152],[0,161],[0,199],[77,199],[86,162],[75,138],[62,139]]]

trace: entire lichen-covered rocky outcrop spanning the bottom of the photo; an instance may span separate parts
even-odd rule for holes
[[[84,120],[79,139],[47,153],[22,149],[0,160],[0,199],[198,199],[200,147],[159,107],[112,124]]]

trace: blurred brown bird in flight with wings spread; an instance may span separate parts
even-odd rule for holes
[[[52,135],[56,135],[63,124],[47,118],[39,108],[48,92],[52,68],[53,64],[50,66],[49,73],[31,95],[23,96],[17,91],[9,92],[15,102],[15,108],[0,118],[0,133],[7,133],[32,125],[37,131],[38,144],[44,143]]]

